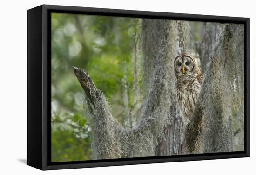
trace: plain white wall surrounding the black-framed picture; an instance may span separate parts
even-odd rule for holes
[[[256,60],[256,9],[253,0],[2,0],[0,9],[0,174],[190,174],[242,175],[256,172],[255,103],[256,88],[253,71]],[[173,162],[90,169],[69,169],[43,172],[27,166],[27,9],[41,4],[88,6],[158,12],[178,12],[205,15],[249,17],[251,57],[251,157],[226,160]],[[255,126],[255,127],[253,127]]]

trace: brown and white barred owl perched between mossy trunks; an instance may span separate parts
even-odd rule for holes
[[[192,117],[201,91],[203,75],[195,58],[187,53],[181,53],[175,58],[174,71],[177,79],[177,101],[183,116],[188,121]]]

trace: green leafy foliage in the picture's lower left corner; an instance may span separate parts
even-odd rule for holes
[[[52,162],[91,159],[91,138],[84,116],[52,114]]]

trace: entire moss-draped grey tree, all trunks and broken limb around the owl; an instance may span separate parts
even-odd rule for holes
[[[132,128],[123,127],[112,117],[104,94],[85,70],[74,67],[86,94],[94,159],[243,149],[244,54],[243,44],[238,44],[243,43],[243,25],[226,25],[187,126],[176,102],[173,69],[175,56],[188,47],[189,29],[182,28],[185,25],[189,27],[185,21],[142,19],[143,80],[147,88],[138,117],[141,120]],[[237,125],[237,121],[242,124]]]

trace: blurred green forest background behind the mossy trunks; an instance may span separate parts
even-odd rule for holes
[[[115,119],[126,127],[136,124],[124,116],[140,101],[134,100],[139,98],[135,91],[143,92],[140,23],[136,18],[52,13],[52,162],[93,159],[84,92],[72,66],[89,73]],[[202,27],[203,22],[190,22],[193,41],[200,41]]]

